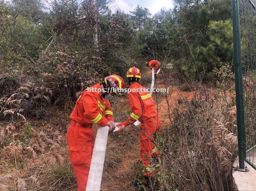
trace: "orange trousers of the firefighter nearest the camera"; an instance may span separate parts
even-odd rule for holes
[[[94,131],[91,128],[69,125],[67,142],[71,164],[77,181],[77,190],[84,191],[93,154]]]

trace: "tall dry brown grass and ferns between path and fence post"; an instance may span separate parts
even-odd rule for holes
[[[173,110],[172,123],[156,140],[162,157],[153,164],[156,179],[146,189],[232,190],[236,116],[234,107],[221,107],[222,103],[194,98]]]

